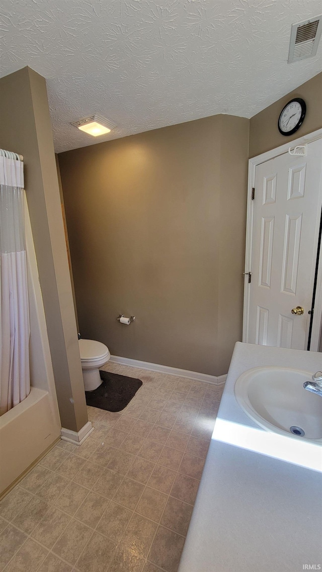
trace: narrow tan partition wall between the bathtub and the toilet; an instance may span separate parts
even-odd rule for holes
[[[21,153],[62,426],[87,423],[46,82],[29,67],[0,80],[0,147]]]

